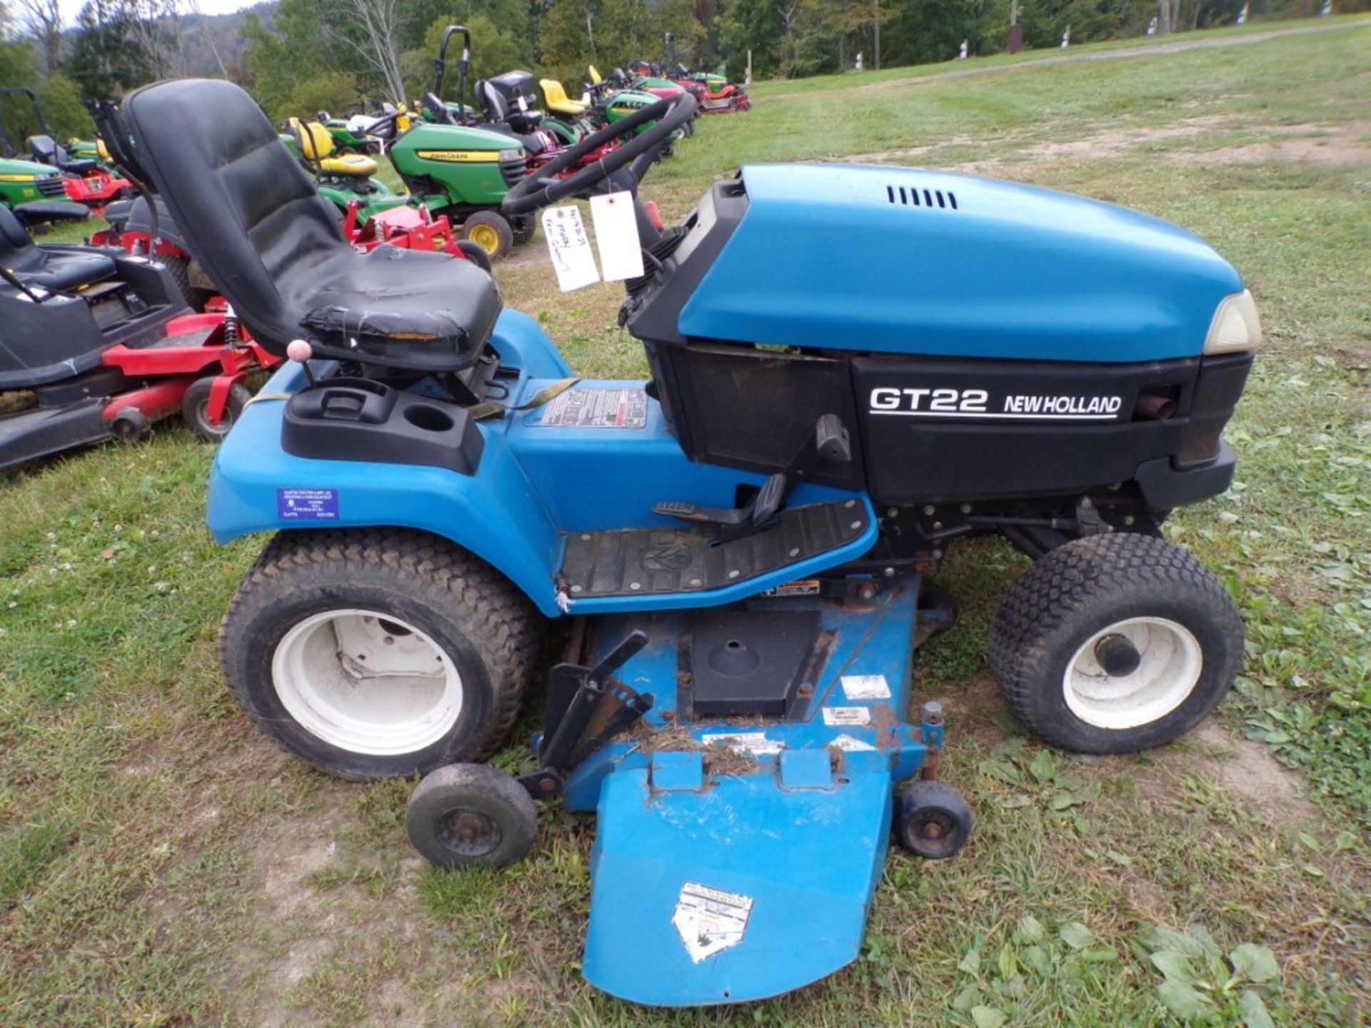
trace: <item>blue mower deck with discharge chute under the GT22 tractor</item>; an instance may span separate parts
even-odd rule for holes
[[[618,677],[655,702],[565,784],[570,809],[598,813],[590,981],[640,1003],[728,1003],[856,959],[894,787],[941,743],[941,725],[905,722],[917,593],[598,622],[592,659],[647,633]],[[779,715],[743,713],[768,700]]]

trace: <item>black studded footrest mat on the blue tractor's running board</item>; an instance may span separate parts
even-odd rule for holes
[[[860,500],[790,507],[728,543],[707,528],[570,532],[562,576],[572,599],[721,589],[836,550],[866,530]]]

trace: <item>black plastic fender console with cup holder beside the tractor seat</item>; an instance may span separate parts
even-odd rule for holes
[[[454,403],[370,378],[332,378],[285,404],[281,447],[315,461],[432,465],[474,474],[484,439]]]

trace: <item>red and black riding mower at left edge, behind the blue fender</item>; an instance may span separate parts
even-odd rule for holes
[[[37,245],[0,207],[0,467],[181,414],[222,439],[278,362],[219,302],[192,314],[171,270],[117,247]]]

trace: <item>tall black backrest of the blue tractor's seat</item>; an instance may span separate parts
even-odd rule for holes
[[[243,89],[218,79],[155,82],[123,104],[136,156],[210,280],[274,352],[300,334],[284,296],[341,249],[336,208]]]

